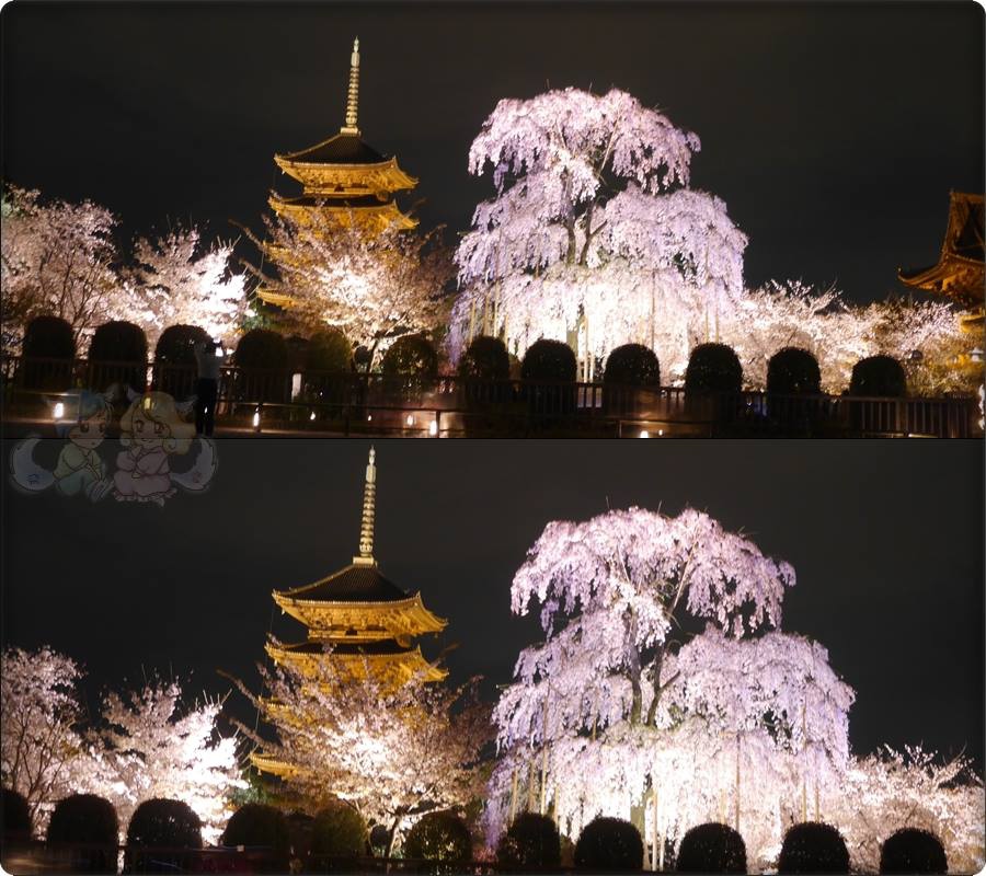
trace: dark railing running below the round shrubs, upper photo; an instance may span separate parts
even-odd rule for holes
[[[195,393],[192,366],[4,358],[8,416],[50,419],[72,390]],[[67,414],[69,417],[70,413]],[[604,383],[475,381],[377,373],[221,369],[216,422],[242,431],[497,436],[931,436],[978,437],[971,396],[686,393]]]

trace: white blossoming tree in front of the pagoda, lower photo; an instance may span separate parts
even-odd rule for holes
[[[465,807],[482,793],[477,768],[490,738],[489,710],[471,684],[412,678],[398,685],[368,662],[351,675],[331,659],[311,677],[283,668],[261,672],[263,696],[237,684],[276,739],[242,729],[265,761],[286,768],[278,773],[308,805],[346,802],[368,823],[387,828],[392,848],[421,816]]]

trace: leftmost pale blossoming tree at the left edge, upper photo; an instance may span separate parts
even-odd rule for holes
[[[117,219],[105,207],[44,204],[38,192],[9,185],[0,221],[4,351],[18,349],[37,315],[66,320],[77,344],[101,323],[130,315],[135,302],[115,273]]]

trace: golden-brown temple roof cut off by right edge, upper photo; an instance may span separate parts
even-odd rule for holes
[[[899,270],[901,280],[950,298],[964,311],[959,323],[982,346],[984,322],[983,196],[952,192],[949,226],[937,264],[918,270]],[[979,351],[982,354],[982,349]],[[979,356],[979,359],[982,356]]]

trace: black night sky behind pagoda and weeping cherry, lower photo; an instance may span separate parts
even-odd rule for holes
[[[357,552],[367,449],[220,441],[210,491],[163,508],[27,497],[4,481],[4,644],[47,643],[83,662],[91,702],[101,685],[154,669],[191,676],[192,692],[228,690],[218,668],[255,683],[268,630],[303,636],[274,616],[271,591]],[[53,441],[36,458],[57,451]],[[385,440],[377,453],[375,554],[448,619],[423,650],[458,643],[454,681],[508,681],[538,637],[532,619],[511,614],[509,585],[548,521],[607,503],[691,505],[793,564],[783,629],[823,643],[858,691],[857,752],[965,746],[982,769],[981,442]],[[229,704],[252,717],[242,700]]]

